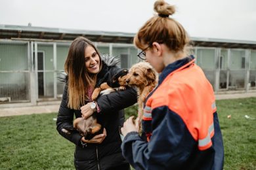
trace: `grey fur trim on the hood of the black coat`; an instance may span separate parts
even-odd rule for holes
[[[100,58],[102,59],[103,65],[106,64],[108,67],[116,66],[120,63],[119,58],[110,56],[109,54],[102,54]],[[68,75],[65,71],[58,73],[57,78],[62,83],[66,83],[68,81]]]

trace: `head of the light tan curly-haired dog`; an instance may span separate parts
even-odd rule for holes
[[[136,87],[149,86],[150,84],[156,85],[158,82],[158,73],[146,61],[133,65],[126,77],[127,84]]]

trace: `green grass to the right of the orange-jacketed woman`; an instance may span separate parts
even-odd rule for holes
[[[217,112],[224,141],[224,169],[256,169],[256,98],[217,101]]]

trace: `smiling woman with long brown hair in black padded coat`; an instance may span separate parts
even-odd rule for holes
[[[129,163],[121,155],[119,127],[124,122],[125,107],[137,102],[133,88],[102,95],[91,100],[95,87],[111,80],[121,69],[110,56],[100,57],[93,42],[78,37],[69,49],[65,62],[66,86],[58,111],[58,133],[75,144],[75,169],[129,169]],[[96,115],[104,127],[101,134],[85,139],[73,128],[75,118]],[[69,133],[66,133],[69,130]]]

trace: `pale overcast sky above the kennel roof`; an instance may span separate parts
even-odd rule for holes
[[[256,41],[256,0],[166,0],[191,37]],[[155,0],[0,0],[0,24],[136,33]]]

